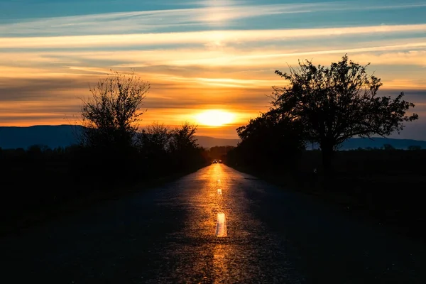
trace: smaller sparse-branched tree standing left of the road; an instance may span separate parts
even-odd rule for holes
[[[143,99],[150,89],[134,72],[114,72],[90,89],[92,97],[82,99],[82,119],[86,126],[83,142],[102,148],[128,148],[135,141]]]

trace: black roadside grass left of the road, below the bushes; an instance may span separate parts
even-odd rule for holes
[[[204,166],[178,173],[133,173],[131,179],[111,181],[99,180],[93,173],[76,176],[67,163],[9,165],[1,171],[0,236],[22,234],[37,224],[164,185]]]

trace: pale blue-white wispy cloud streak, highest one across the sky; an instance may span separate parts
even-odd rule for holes
[[[245,18],[291,13],[321,13],[330,11],[362,11],[407,9],[426,6],[425,3],[375,5],[359,1],[317,2],[300,4],[246,4],[236,1],[206,1],[204,6],[191,9],[129,11],[79,16],[27,19],[0,25],[0,35],[94,35],[105,33],[144,33],[167,29],[232,26]]]

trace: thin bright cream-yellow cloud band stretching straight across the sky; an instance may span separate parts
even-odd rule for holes
[[[300,28],[276,30],[195,31],[182,33],[136,33],[119,35],[74,35],[0,38],[0,48],[87,48],[176,44],[226,44],[295,38],[324,38],[381,33],[425,33],[426,24],[357,26],[343,28]]]

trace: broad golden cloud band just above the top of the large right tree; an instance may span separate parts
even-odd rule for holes
[[[317,64],[327,65],[344,53],[362,63],[373,65],[413,65],[426,67],[426,39],[410,40],[408,43],[374,45],[351,48],[348,43],[338,49],[330,45],[299,50],[279,47],[241,48],[224,47],[217,50],[206,48],[180,48],[161,50],[114,50],[114,51],[25,51],[0,53],[2,70],[0,77],[58,77],[68,75],[100,75],[111,67],[119,69],[136,68],[147,74],[180,74],[195,77],[200,72],[215,77],[217,68],[221,72],[244,72],[270,68],[276,69],[289,63],[297,64],[299,59],[313,59]],[[362,46],[362,45],[361,45]],[[202,68],[202,69],[200,69]],[[192,70],[192,72],[191,72]],[[229,75],[229,74],[228,74]],[[257,74],[255,74],[257,76]]]

